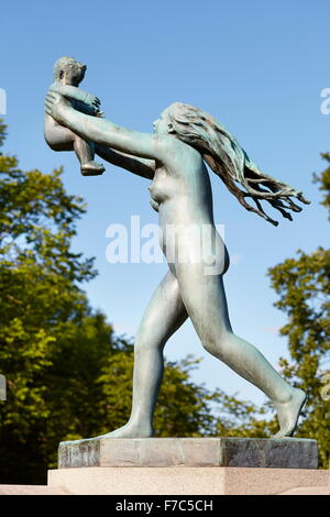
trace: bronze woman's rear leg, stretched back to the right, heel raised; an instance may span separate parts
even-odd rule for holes
[[[292,436],[305,393],[293,388],[255,346],[233,333],[222,276],[205,275],[201,266],[179,270],[183,300],[205,349],[264,392],[278,414],[276,436]]]

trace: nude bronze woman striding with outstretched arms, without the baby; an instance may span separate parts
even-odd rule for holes
[[[53,92],[46,98],[46,112],[58,123],[95,142],[96,152],[108,162],[152,179],[151,204],[160,215],[161,245],[169,265],[136,333],[131,417],[125,426],[105,436],[143,438],[153,435],[153,414],[163,377],[163,350],[188,317],[209,353],[270,397],[279,422],[276,437],[293,436],[306,400],[305,393],[287,384],[255,346],[234,334],[222,279],[229,266],[227,250],[224,245],[213,246],[220,271],[206,274],[209,262],[199,254],[198,240],[185,228],[208,226],[212,229],[213,241],[222,242],[215,228],[212,193],[205,162],[245,208],[273,223],[276,221],[265,215],[261,199],[268,200],[284,217],[290,218],[287,210],[300,210],[292,197],[308,202],[302,194],[261,173],[220,122],[187,105],[176,102],[165,109],[154,122],[153,134],[130,131],[80,113]],[[239,189],[238,183],[245,191]],[[249,196],[255,200],[256,208],[248,205]],[[164,238],[170,224],[178,228],[173,244]],[[176,258],[180,252],[201,258],[182,262]]]

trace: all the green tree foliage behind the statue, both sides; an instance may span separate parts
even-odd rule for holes
[[[0,145],[4,136],[0,120]],[[330,209],[329,170],[315,180]],[[96,275],[94,261],[72,251],[86,207],[65,191],[62,174],[22,172],[14,156],[0,153],[0,373],[8,382],[8,400],[0,402],[0,483],[45,483],[59,441],[116,429],[131,409],[133,346],[89,307],[81,286]],[[276,306],[289,318],[282,329],[290,352],[280,362],[283,374],[308,392],[299,433],[318,439],[323,466],[330,451],[330,405],[321,397],[329,372],[329,268],[330,251],[320,248],[270,270]],[[277,430],[264,417],[268,406],[221,391],[211,395],[193,383],[197,366],[191,358],[166,362],[157,436],[267,437]]]

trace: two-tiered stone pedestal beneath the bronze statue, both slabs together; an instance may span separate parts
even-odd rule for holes
[[[279,494],[330,486],[316,440],[95,438],[62,442],[48,485],[74,494]]]

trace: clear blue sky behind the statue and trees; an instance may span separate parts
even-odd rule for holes
[[[312,201],[294,222],[273,228],[245,211],[212,177],[215,215],[224,224],[232,266],[226,276],[235,332],[276,365],[286,354],[277,329],[285,317],[266,277],[268,267],[329,243],[312,172],[326,163],[330,114],[320,111],[330,87],[329,2],[326,0],[81,0],[6,2],[1,8],[0,88],[8,96],[6,151],[24,169],[50,172],[64,165],[64,182],[80,194],[88,213],[75,249],[97,257],[99,276],[87,293],[119,333],[133,336],[165,264],[109,264],[106,229],[156,223],[148,182],[107,165],[101,177],[84,178],[72,153],[54,153],[43,140],[43,99],[53,63],[63,55],[88,65],[84,89],[102,100],[106,117],[151,132],[169,103],[183,101],[217,117],[265,172],[304,190]],[[273,212],[275,216],[275,213]],[[277,216],[277,213],[276,213]],[[207,355],[189,322],[170,339],[165,355],[204,358],[194,380],[243,398],[263,395]]]

